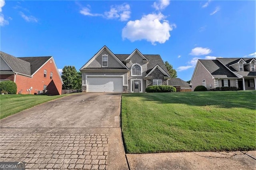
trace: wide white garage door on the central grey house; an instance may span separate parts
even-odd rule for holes
[[[122,92],[122,77],[88,77],[88,92]]]

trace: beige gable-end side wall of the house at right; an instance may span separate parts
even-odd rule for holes
[[[212,78],[212,75],[198,61],[198,67],[196,69],[196,72],[194,73],[194,79],[192,80],[192,91],[194,91],[196,86],[202,85],[203,79],[206,80],[207,90],[211,89],[210,85],[212,85],[212,88],[214,87],[214,79]]]

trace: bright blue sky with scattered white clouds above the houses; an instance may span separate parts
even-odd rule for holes
[[[0,0],[0,50],[80,69],[106,45],[160,54],[188,81],[197,59],[256,57],[255,1]]]

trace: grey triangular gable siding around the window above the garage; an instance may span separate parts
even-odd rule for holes
[[[87,68],[100,68],[102,67],[102,55],[108,55],[109,68],[124,68],[106,49],[104,49],[89,65]]]

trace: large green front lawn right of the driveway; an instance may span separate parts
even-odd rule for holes
[[[256,150],[256,91],[122,95],[126,153]]]

